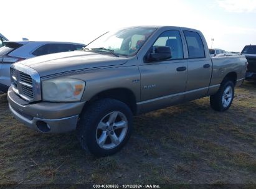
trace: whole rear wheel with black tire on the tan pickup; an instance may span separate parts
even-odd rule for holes
[[[234,83],[230,80],[222,81],[219,91],[211,95],[211,108],[216,111],[226,111],[234,99]]]

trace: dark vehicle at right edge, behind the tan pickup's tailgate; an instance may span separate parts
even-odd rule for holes
[[[256,45],[246,45],[241,54],[245,55],[248,61],[245,80],[256,81]]]

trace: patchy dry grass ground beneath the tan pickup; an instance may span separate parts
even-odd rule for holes
[[[121,152],[96,159],[75,133],[41,134],[17,122],[0,96],[0,184],[256,184],[256,85],[235,89],[230,109],[209,98],[136,116]]]

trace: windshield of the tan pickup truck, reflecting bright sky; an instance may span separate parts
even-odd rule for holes
[[[108,32],[92,42],[92,44],[87,45],[85,50],[111,51],[116,55],[131,57],[140,50],[154,30],[156,28],[134,27]]]

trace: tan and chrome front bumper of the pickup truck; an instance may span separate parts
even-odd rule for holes
[[[85,102],[28,103],[9,88],[9,108],[14,117],[31,129],[40,132],[60,133],[76,129],[79,114]]]

